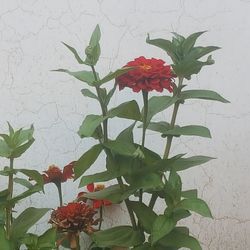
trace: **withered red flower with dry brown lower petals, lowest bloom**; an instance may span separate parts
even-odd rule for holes
[[[97,225],[99,219],[94,219],[97,213],[84,202],[72,202],[66,206],[58,207],[51,214],[49,223],[55,225],[62,232],[93,233],[93,225]]]

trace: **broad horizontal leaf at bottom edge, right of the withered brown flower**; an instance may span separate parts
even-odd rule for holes
[[[130,226],[118,226],[93,233],[92,240],[99,247],[132,247],[144,241],[141,233]]]

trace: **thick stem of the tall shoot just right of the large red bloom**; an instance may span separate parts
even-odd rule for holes
[[[179,77],[178,89],[177,89],[177,94],[176,94],[177,97],[179,96],[179,94],[181,92],[181,86],[182,86],[183,80],[184,80],[183,77]],[[176,122],[176,117],[177,117],[179,106],[180,106],[180,102],[177,101],[174,104],[174,109],[173,109],[173,113],[172,113],[172,117],[171,117],[171,122],[170,122],[170,129],[174,128],[174,126],[175,126],[175,122]],[[170,148],[171,148],[171,145],[172,145],[172,141],[173,141],[173,135],[169,135],[167,137],[167,143],[166,143],[166,146],[165,146],[165,150],[164,150],[164,154],[163,154],[163,159],[168,159],[169,153],[170,153]],[[152,197],[151,197],[151,200],[149,202],[149,207],[151,209],[153,209],[157,198],[158,198],[158,195],[156,193],[153,193]]]

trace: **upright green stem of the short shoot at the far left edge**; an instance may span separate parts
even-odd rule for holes
[[[13,170],[14,170],[14,158],[10,158],[10,173],[9,173],[9,183],[8,183],[8,200],[13,196]],[[12,206],[8,205],[6,207],[6,236],[10,239],[10,228],[12,224]]]

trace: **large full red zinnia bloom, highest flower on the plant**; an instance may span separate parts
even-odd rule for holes
[[[146,59],[141,56],[128,62],[125,67],[134,67],[134,69],[116,79],[120,90],[129,87],[134,92],[141,90],[162,92],[163,89],[167,89],[169,92],[173,91],[174,75],[170,65],[165,65],[163,60]]]

